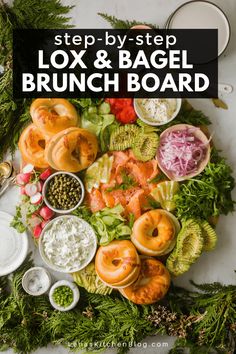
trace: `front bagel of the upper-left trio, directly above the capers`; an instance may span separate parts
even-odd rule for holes
[[[86,129],[74,127],[52,137],[45,156],[55,170],[79,172],[94,162],[97,151],[96,136]]]

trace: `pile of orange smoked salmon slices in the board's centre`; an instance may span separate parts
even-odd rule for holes
[[[148,196],[156,186],[149,181],[159,173],[157,161],[138,161],[131,150],[113,151],[112,155],[114,160],[110,181],[101,184],[99,189],[93,188],[88,196],[88,204],[92,212],[121,204],[125,214],[132,213],[137,219],[143,210],[147,210]],[[134,181],[128,188],[122,187],[124,175]]]

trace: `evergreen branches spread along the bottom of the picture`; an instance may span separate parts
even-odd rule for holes
[[[0,278],[0,350],[27,354],[52,343],[72,350],[114,347],[123,354],[149,335],[167,334],[178,337],[170,354],[187,348],[191,354],[234,351],[236,286],[194,284],[193,292],[172,285],[153,306],[135,305],[118,292],[98,295],[80,288],[79,305],[60,312],[47,296],[24,292],[22,276],[32,266],[29,255],[10,279]]]

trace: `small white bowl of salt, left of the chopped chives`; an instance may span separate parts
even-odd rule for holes
[[[33,291],[33,287],[38,290]],[[22,287],[25,292],[32,296],[39,296],[45,294],[51,286],[51,275],[43,267],[33,267],[28,269],[22,278]]]

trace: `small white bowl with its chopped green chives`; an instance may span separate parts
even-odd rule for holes
[[[50,303],[58,311],[72,310],[79,298],[80,292],[77,285],[68,280],[57,281],[49,292]]]

